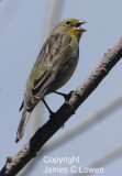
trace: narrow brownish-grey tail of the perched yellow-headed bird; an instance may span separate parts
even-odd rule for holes
[[[18,143],[23,138],[30,114],[31,112],[27,112],[26,110],[23,111],[22,118],[21,118],[18,131],[16,131],[15,143]]]

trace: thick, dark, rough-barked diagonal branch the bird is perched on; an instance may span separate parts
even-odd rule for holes
[[[122,57],[122,37],[109,50],[100,64],[88,76],[88,78],[75,90],[68,102],[65,102],[42,128],[31,138],[23,148],[15,154],[11,161],[7,161],[1,169],[0,176],[16,175],[26,163],[29,163],[42,146],[64,125],[64,123],[75,113],[77,108],[98,87],[101,80],[109,74],[112,67]]]

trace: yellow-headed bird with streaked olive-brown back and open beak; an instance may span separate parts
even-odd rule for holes
[[[62,21],[43,44],[26,81],[15,143],[23,138],[31,112],[41,100],[52,113],[44,97],[56,92],[73,76],[79,58],[79,41],[86,32],[81,26],[84,23],[76,19]]]

